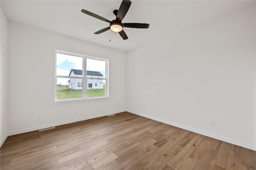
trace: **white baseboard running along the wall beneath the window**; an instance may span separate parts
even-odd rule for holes
[[[110,112],[110,113],[104,113],[104,114],[100,114],[100,115],[93,115],[93,116],[83,117],[83,118],[80,118],[80,119],[73,119],[73,120],[70,120],[70,121],[63,121],[63,122],[52,123],[52,124],[48,124],[48,125],[42,125],[42,126],[37,126],[37,127],[31,127],[31,128],[27,128],[27,129],[21,129],[21,130],[18,130],[18,131],[11,131],[11,132],[8,132],[8,133],[7,133],[7,136],[17,135],[17,134],[20,134],[20,133],[26,133],[26,132],[31,132],[31,131],[37,131],[37,130],[45,129],[45,128],[48,128],[48,127],[66,125],[66,124],[68,124],[68,123],[74,123],[74,122],[78,122],[78,121],[83,121],[83,120],[88,120],[88,119],[94,119],[94,118],[97,118],[97,117],[102,117],[102,116],[106,116],[106,115],[117,114],[117,113],[121,113],[121,112],[124,112],[124,111],[126,111],[126,110],[113,111],[113,112]],[[4,140],[4,141],[5,141],[5,140]],[[2,144],[2,143],[1,143],[1,144]],[[1,146],[2,146],[2,145],[1,145]]]

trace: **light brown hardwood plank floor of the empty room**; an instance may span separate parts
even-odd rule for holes
[[[1,170],[256,170],[256,151],[123,112],[10,136]]]

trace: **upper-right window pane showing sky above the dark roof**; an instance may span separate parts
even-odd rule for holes
[[[87,77],[106,78],[106,61],[87,59]]]

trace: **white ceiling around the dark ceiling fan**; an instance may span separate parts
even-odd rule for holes
[[[255,1],[160,1],[132,0],[123,23],[149,23],[148,29],[124,28],[122,40],[111,30],[94,32],[109,24],[81,12],[88,10],[114,20],[121,0],[1,0],[1,8],[10,21],[24,23],[119,51],[130,51],[153,41],[171,36],[208,20],[255,4]],[[109,41],[111,34],[111,42]]]

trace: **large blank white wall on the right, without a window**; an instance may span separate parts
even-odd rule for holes
[[[252,6],[130,51],[128,111],[256,150],[255,16]]]

